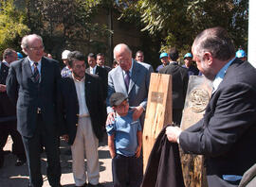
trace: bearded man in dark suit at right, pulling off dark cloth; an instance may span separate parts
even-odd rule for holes
[[[235,58],[221,27],[197,35],[192,54],[200,72],[212,80],[210,102],[202,120],[184,131],[167,127],[167,137],[185,152],[206,157],[209,187],[238,186],[256,162],[256,70]]]

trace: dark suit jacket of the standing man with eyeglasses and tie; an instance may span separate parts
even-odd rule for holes
[[[39,84],[35,82],[27,58],[10,64],[7,93],[17,108],[17,129],[22,136],[32,137],[37,127],[37,110],[42,111],[46,130],[57,130],[59,80],[58,61],[41,59]]]

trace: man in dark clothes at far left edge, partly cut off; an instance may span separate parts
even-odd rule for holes
[[[9,64],[17,60],[17,53],[13,49],[6,49],[3,53],[3,61],[0,62],[0,168],[4,163],[4,151],[8,136],[13,141],[12,153],[17,156],[16,166],[26,162],[24,145],[20,133],[17,131],[16,109],[9,100],[6,91],[6,79],[9,73]]]

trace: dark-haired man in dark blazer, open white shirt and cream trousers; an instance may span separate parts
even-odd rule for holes
[[[71,52],[67,62],[72,76],[64,77],[61,84],[66,132],[63,137],[71,144],[75,183],[86,185],[85,153],[88,186],[101,186],[98,144],[105,124],[101,81],[99,76],[85,73],[81,52]]]

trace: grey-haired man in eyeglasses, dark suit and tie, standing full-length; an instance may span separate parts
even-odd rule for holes
[[[40,155],[44,145],[49,184],[59,187],[61,186],[57,126],[58,82],[61,78],[59,63],[43,57],[43,40],[36,34],[25,36],[21,46],[27,58],[10,64],[7,92],[17,108],[17,128],[22,135],[26,150],[29,186],[43,185]]]

